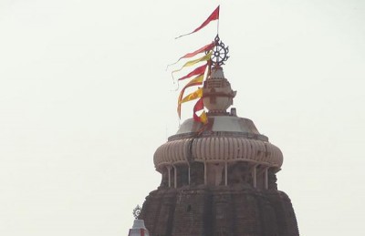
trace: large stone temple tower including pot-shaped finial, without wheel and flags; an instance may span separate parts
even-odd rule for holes
[[[237,116],[222,67],[203,84],[208,124],[189,118],[153,157],[161,185],[140,219],[152,236],[296,236],[287,194],[277,190],[280,149]]]

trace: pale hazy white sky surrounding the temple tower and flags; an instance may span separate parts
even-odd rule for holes
[[[178,128],[165,67],[216,25],[173,38],[218,4],[235,108],[283,151],[301,235],[364,235],[361,0],[1,0],[0,235],[127,235]]]

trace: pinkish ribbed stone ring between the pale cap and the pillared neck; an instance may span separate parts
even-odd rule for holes
[[[190,161],[248,161],[280,168],[283,154],[275,145],[241,137],[206,137],[168,141],[153,156],[156,169]]]

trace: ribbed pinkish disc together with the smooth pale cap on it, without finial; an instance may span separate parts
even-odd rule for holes
[[[157,170],[167,165],[198,162],[245,161],[280,169],[283,154],[261,135],[252,120],[235,116],[208,116],[209,124],[187,119],[176,135],[154,153]]]

